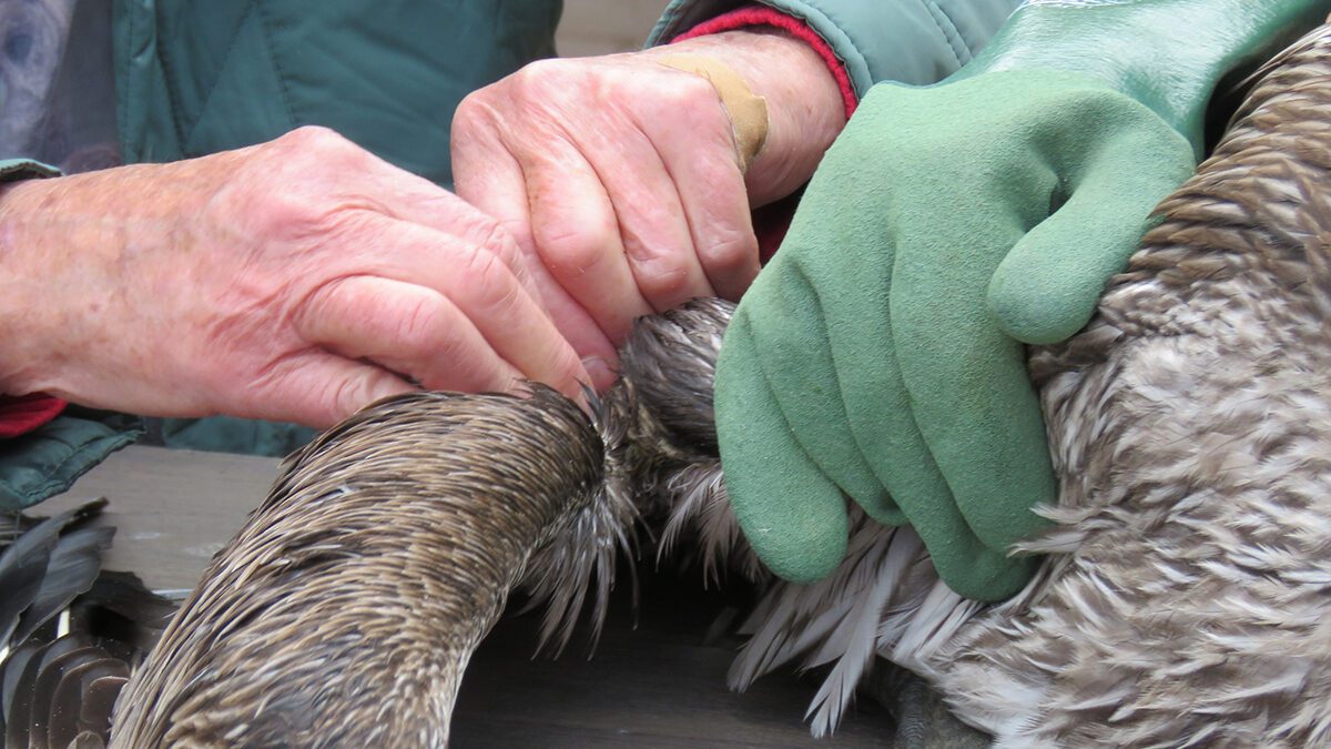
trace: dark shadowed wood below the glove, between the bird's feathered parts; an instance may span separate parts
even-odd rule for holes
[[[701,590],[692,574],[648,574],[640,585],[638,628],[626,585],[590,660],[583,636],[558,660],[532,658],[539,614],[502,621],[467,669],[454,745],[890,745],[893,724],[873,702],[857,705],[835,737],[815,741],[803,722],[812,680],[773,674],[729,692],[725,672],[740,640],[704,640],[732,601]]]

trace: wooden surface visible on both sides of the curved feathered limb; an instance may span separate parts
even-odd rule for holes
[[[39,509],[108,497],[105,521],[118,533],[106,565],[136,572],[153,588],[189,588],[268,493],[277,469],[278,461],[270,458],[133,446]],[[454,745],[889,744],[892,721],[872,704],[857,706],[835,738],[813,741],[801,718],[815,685],[793,674],[767,677],[745,694],[729,692],[725,670],[739,641],[704,644],[704,638],[735,601],[704,592],[697,576],[644,574],[636,629],[627,577],[622,580],[591,660],[586,633],[575,636],[558,660],[532,658],[538,616],[507,616],[467,669]]]

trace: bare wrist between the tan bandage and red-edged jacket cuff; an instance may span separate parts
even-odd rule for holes
[[[735,71],[767,100],[767,141],[745,175],[749,203],[765,205],[813,175],[845,127],[845,105],[823,59],[804,41],[765,27],[727,31],[642,52],[700,55]]]

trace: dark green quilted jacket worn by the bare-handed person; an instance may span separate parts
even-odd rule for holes
[[[607,0],[611,1],[611,0]],[[743,0],[675,0],[648,44]],[[934,83],[982,45],[1017,0],[764,0],[801,19],[861,96],[880,80]],[[562,0],[113,0],[117,125],[126,161],[172,161],[319,124],[442,185],[449,125],[467,92],[554,55]],[[41,176],[19,161],[0,179]],[[284,454],[309,437],[234,418],[152,421],[168,445]],[[0,441],[0,509],[32,505],[144,430],[71,408]]]

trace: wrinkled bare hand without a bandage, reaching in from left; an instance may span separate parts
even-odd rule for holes
[[[17,183],[0,225],[0,392],[323,426],[587,378],[494,220],[330,131]]]

